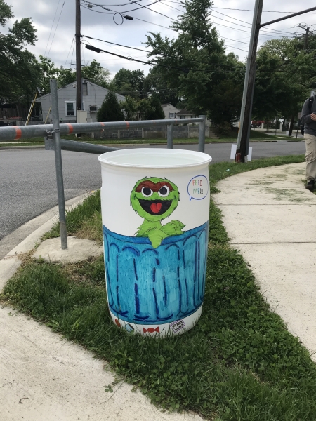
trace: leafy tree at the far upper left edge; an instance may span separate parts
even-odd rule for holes
[[[13,18],[11,6],[0,0],[0,25]],[[37,41],[31,18],[16,20],[8,34],[0,33],[0,102],[24,102],[34,95],[39,80],[35,56],[25,46]]]

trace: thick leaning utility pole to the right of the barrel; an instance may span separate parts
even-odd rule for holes
[[[256,0],[254,7],[254,18],[251,28],[249,53],[246,64],[246,74],[244,78],[244,93],[242,95],[242,109],[240,112],[239,132],[237,138],[236,162],[244,162],[249,147],[249,131],[251,120],[252,98],[254,95],[254,79],[256,76],[256,53],[260,22],[263,8],[263,0]],[[247,142],[248,139],[248,142]]]

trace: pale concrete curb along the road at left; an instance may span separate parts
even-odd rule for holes
[[[68,206],[68,208],[74,208],[82,203],[88,194],[80,194],[80,196],[67,200],[65,205]],[[12,278],[12,276],[21,265],[22,261],[20,260],[19,255],[28,253],[29,250],[32,250],[32,248],[37,246],[37,244],[41,243],[41,237],[44,236],[44,234],[46,234],[46,232],[48,232],[51,228],[53,228],[55,223],[58,221],[58,206],[54,206],[53,208],[46,210],[46,212],[26,222],[24,225],[22,225],[22,227],[25,227],[25,225],[29,225],[30,223],[32,224],[32,222],[35,220],[43,217],[47,219],[46,222],[35,229],[34,232],[29,234],[23,241],[18,244],[18,246],[15,246],[4,256],[4,258],[0,260],[0,293],[6,285],[6,282]],[[18,229],[20,228],[21,227]],[[14,232],[16,232],[18,229],[15,229]]]

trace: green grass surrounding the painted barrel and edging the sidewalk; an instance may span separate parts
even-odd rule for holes
[[[286,156],[214,164],[212,186],[242,170],[301,161],[303,156]],[[76,217],[67,214],[67,225],[76,234],[84,227],[81,216],[88,221],[98,213],[96,193]],[[93,221],[100,230],[98,216]],[[107,310],[102,257],[79,265],[25,262],[1,299],[109,361],[164,408],[194,410],[216,421],[315,420],[315,364],[270,311],[251,270],[230,248],[213,202],[209,239],[202,317],[185,335],[156,340],[118,329]]]

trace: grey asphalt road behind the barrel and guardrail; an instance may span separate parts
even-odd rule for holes
[[[253,159],[305,153],[304,142],[261,142],[251,146]],[[177,145],[176,148],[197,150],[197,145]],[[230,144],[215,143],[206,145],[205,152],[212,156],[212,163],[230,161],[230,148]],[[62,163],[66,200],[100,187],[98,155],[64,151]],[[20,237],[18,240],[15,237],[11,240],[8,234],[57,204],[53,151],[44,149],[1,151],[0,195],[0,258],[2,258],[16,245],[15,241],[22,241]]]

